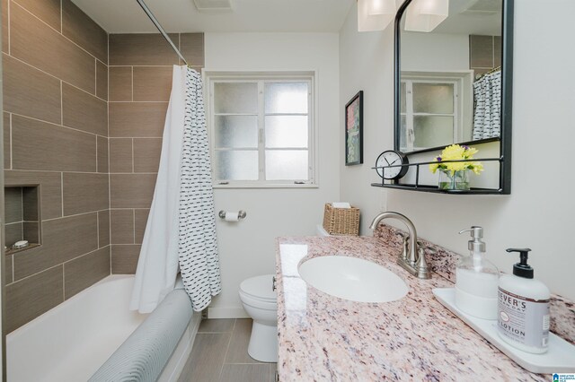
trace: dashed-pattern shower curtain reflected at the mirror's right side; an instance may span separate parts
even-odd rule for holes
[[[473,141],[500,136],[501,71],[473,82]]]

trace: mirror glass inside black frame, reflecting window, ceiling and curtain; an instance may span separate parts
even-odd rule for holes
[[[401,21],[398,149],[499,138],[502,0],[438,0],[426,19],[427,3]]]

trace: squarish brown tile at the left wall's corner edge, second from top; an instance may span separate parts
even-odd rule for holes
[[[108,135],[107,102],[67,83],[62,83],[62,117],[64,126]]]

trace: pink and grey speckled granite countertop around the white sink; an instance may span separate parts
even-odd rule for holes
[[[396,249],[371,237],[277,239],[279,380],[540,381],[491,346],[433,297],[453,283],[433,273],[420,280],[395,264]],[[401,300],[342,300],[308,286],[302,261],[328,255],[364,258],[398,274]]]

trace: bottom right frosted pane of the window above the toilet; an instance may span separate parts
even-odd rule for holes
[[[307,179],[307,150],[266,150],[266,179]]]

